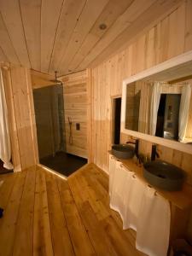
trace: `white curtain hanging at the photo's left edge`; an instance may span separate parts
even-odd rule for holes
[[[9,170],[13,169],[13,165],[10,162],[11,145],[9,136],[8,108],[5,98],[2,69],[0,69],[0,159],[3,160],[4,168]]]

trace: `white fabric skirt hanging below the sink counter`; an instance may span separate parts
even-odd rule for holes
[[[149,256],[166,256],[171,222],[169,201],[110,155],[111,160],[110,207],[119,212],[124,229],[137,231],[137,249]]]

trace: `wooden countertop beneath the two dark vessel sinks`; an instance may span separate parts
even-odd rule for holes
[[[109,152],[109,154],[111,154]],[[113,156],[116,160],[119,160],[125,168],[130,170],[131,172],[135,172],[136,176],[139,177],[144,183],[148,182],[143,177],[143,166],[137,166],[137,164],[132,159],[117,159],[115,156]],[[151,186],[150,184],[148,184]],[[190,186],[187,183],[183,184],[183,189],[179,191],[166,191],[162,189],[155,188],[154,189],[162,195],[164,198],[166,198],[168,201],[170,201],[174,206],[178,207],[181,210],[187,209],[192,207],[192,186]]]

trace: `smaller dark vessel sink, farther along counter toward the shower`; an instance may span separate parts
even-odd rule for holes
[[[127,144],[116,144],[112,146],[112,154],[120,159],[132,158],[135,154],[135,148]]]

